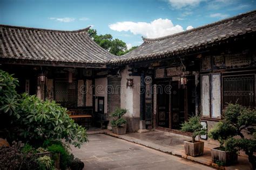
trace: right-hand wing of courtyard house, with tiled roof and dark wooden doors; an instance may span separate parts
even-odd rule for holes
[[[146,93],[140,96],[146,125],[175,131],[188,117],[201,114],[211,128],[227,103],[256,107],[255,31],[252,11],[171,36],[144,38],[111,62],[129,66],[130,75],[146,80],[141,81]]]

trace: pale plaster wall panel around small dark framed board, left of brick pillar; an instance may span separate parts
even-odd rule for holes
[[[104,113],[107,113],[107,77],[95,79],[95,97],[104,97]],[[98,111],[98,99],[95,99],[95,111]]]

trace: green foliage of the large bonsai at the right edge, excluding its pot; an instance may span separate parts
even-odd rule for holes
[[[243,150],[248,155],[253,168],[256,168],[255,139],[256,110],[239,104],[228,104],[223,112],[223,120],[210,131],[209,137],[221,139],[226,151]],[[246,134],[246,135],[245,135]],[[234,138],[240,136],[240,138]]]

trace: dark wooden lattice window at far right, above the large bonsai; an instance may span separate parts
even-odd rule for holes
[[[255,107],[255,78],[252,75],[223,76],[223,103]]]

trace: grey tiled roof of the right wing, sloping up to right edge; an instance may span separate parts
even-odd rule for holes
[[[171,36],[156,39],[143,38],[142,45],[120,58],[112,59],[111,63],[152,59],[255,31],[256,11],[251,11]]]

